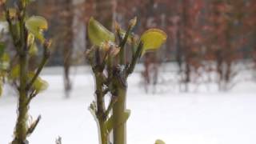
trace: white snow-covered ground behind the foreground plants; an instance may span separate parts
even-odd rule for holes
[[[97,126],[88,110],[94,96],[90,73],[72,76],[74,90],[65,99],[61,74],[47,70],[42,78],[50,87],[31,102],[30,114],[42,120],[30,136],[31,144],[98,144]],[[228,93],[216,90],[180,93],[173,85],[159,86],[156,94],[146,94],[139,74],[129,78],[127,108],[128,144],[255,144],[256,84],[243,82]],[[0,98],[0,144],[12,139],[17,99],[13,91]]]

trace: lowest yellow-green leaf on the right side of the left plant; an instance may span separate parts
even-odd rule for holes
[[[29,79],[31,80],[34,77],[34,73],[30,72],[28,74]],[[45,80],[43,80],[42,78],[38,77],[33,84],[33,89],[36,90],[38,93],[46,90],[48,88],[49,84],[48,82],[46,82]]]

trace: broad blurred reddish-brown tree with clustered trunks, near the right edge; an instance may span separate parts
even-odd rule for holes
[[[238,74],[237,63],[242,60],[242,50],[246,45],[246,2],[240,0],[210,1],[205,26],[206,59],[214,60],[218,73],[219,90],[229,90],[234,86]]]

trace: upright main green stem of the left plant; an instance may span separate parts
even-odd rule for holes
[[[26,10],[25,7],[22,7]],[[22,10],[21,10],[22,11]],[[12,143],[25,144],[26,133],[27,133],[27,115],[29,106],[27,105],[28,91],[26,90],[27,84],[27,70],[28,70],[28,47],[27,47],[27,31],[25,28],[25,14],[18,14],[19,26],[20,26],[20,39],[19,45],[16,47],[18,49],[19,55],[19,98],[18,98],[18,120],[15,126],[14,141]]]

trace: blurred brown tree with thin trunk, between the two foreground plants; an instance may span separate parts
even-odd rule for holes
[[[38,13],[50,19],[52,23],[48,33],[54,38],[54,57],[51,59],[51,65],[63,65],[66,98],[69,97],[72,87],[70,68],[72,65],[83,63],[87,18],[84,11],[85,8],[93,7],[91,5],[90,0],[38,1]]]

